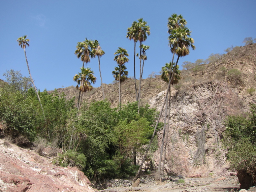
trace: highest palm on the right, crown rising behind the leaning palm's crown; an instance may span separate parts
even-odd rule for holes
[[[185,25],[187,25],[187,21],[183,18],[183,16],[181,14],[177,15],[176,13],[173,13],[171,17],[168,18],[168,33],[171,34],[173,29],[183,28]],[[171,63],[173,63],[173,59],[174,53],[172,55]]]

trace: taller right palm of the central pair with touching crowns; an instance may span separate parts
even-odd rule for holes
[[[146,21],[143,21],[143,18],[138,19],[138,41],[140,42],[140,54],[139,54],[139,92],[138,92],[138,114],[139,114],[139,105],[140,105],[140,88],[141,88],[141,50],[142,42],[147,40],[147,35],[150,35],[150,27],[147,25]]]

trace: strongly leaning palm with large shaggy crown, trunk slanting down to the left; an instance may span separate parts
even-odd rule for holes
[[[170,44],[170,47],[171,47],[171,52],[172,53],[175,53],[176,55],[178,55],[178,59],[176,61],[176,64],[174,66],[174,71],[176,70],[176,67],[177,67],[177,64],[178,64],[178,61],[179,61],[179,58],[180,57],[184,57],[186,55],[189,54],[189,47],[191,47],[193,50],[195,49],[195,46],[193,45],[194,43],[194,39],[190,37],[190,33],[191,31],[188,29],[188,28],[178,28],[178,29],[174,29],[172,30],[171,32],[171,35],[169,37],[169,43],[173,43],[173,44]],[[160,113],[159,113],[159,117],[157,119],[157,122],[156,122],[156,126],[155,126],[155,129],[154,129],[154,132],[152,134],[152,137],[151,137],[151,140],[150,140],[150,143],[149,143],[149,146],[146,150],[146,153],[145,153],[145,156],[143,157],[142,161],[141,161],[141,164],[140,164],[140,167],[139,167],[139,170],[135,176],[135,178],[133,179],[133,182],[135,182],[138,178],[138,175],[140,173],[140,170],[142,168],[142,165],[143,163],[145,162],[145,159],[147,157],[147,154],[149,152],[149,148],[151,146],[151,143],[153,141],[153,138],[155,136],[155,133],[156,133],[156,128],[158,126],[158,123],[159,123],[159,120],[160,120],[160,117],[162,115],[162,112],[163,112],[163,108],[164,108],[164,105],[165,105],[165,102],[166,102],[166,99],[167,99],[167,96],[168,96],[168,91],[169,91],[169,87],[171,85],[171,81],[174,77],[174,73],[170,73],[169,74],[169,82],[168,82],[168,87],[167,87],[167,90],[166,90],[166,94],[165,94],[165,99],[164,99],[164,102],[163,102],[163,105],[162,105],[162,108],[160,110]],[[155,178],[156,179],[156,178]],[[160,179],[160,177],[159,177]],[[158,180],[158,178],[156,179]]]

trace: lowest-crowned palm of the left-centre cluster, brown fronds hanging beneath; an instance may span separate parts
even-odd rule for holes
[[[79,91],[82,91],[82,97],[83,97],[83,92],[86,93],[87,91],[91,91],[93,89],[91,83],[95,84],[96,77],[93,75],[94,72],[91,70],[91,68],[81,67],[80,69],[81,69],[81,73],[75,74],[75,76],[73,77],[73,80],[77,82],[76,89],[79,89]],[[79,110],[79,106],[77,108]]]

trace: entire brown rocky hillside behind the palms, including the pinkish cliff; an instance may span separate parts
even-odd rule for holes
[[[171,88],[171,113],[165,171],[174,174],[199,173],[202,176],[226,174],[228,164],[221,148],[223,121],[227,115],[248,111],[256,103],[247,90],[256,85],[256,44],[240,47],[224,55],[215,64],[202,64],[203,71],[182,70],[180,89]],[[233,74],[231,69],[241,73]],[[137,81],[138,84],[138,81]],[[138,86],[137,86],[138,87]],[[160,76],[142,79],[142,105],[162,107],[167,84]],[[68,98],[75,96],[75,87],[58,89]],[[118,84],[104,84],[105,97],[112,106],[118,104]],[[83,101],[102,100],[100,87],[83,96]],[[135,101],[134,79],[122,84],[122,104]],[[161,121],[164,120],[164,113]],[[163,132],[158,133],[161,145]],[[158,165],[159,150],[154,154]]]

